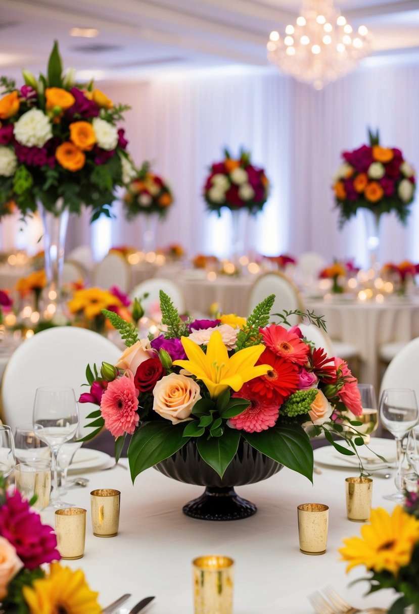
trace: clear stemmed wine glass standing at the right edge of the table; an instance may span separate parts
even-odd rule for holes
[[[385,495],[391,501],[404,501],[402,491],[402,439],[417,424],[419,417],[418,404],[415,391],[409,388],[388,388],[383,391],[380,398],[380,419],[383,426],[390,431],[396,439],[396,488],[397,492]]]

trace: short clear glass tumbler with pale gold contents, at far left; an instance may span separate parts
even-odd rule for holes
[[[51,465],[47,461],[22,462],[15,467],[15,485],[28,500],[36,495],[33,507],[44,510],[50,502]]]

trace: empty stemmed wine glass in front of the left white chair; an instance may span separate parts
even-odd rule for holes
[[[45,386],[38,388],[33,408],[34,432],[51,449],[51,468],[53,491],[49,507],[59,509],[71,507],[60,501],[58,492],[57,456],[65,441],[77,432],[79,408],[74,390],[65,386]]]

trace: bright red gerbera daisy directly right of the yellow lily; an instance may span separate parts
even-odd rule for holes
[[[298,387],[297,365],[281,356],[276,356],[272,350],[266,348],[261,354],[257,365],[271,365],[266,375],[251,379],[248,382],[249,389],[267,402],[276,402],[278,407],[282,405],[289,395],[296,392]]]

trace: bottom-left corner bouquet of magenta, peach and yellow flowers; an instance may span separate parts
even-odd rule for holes
[[[0,610],[7,614],[100,614],[94,593],[78,569],[62,567],[52,527],[41,523],[20,492],[0,479]],[[80,606],[82,604],[82,606]]]

